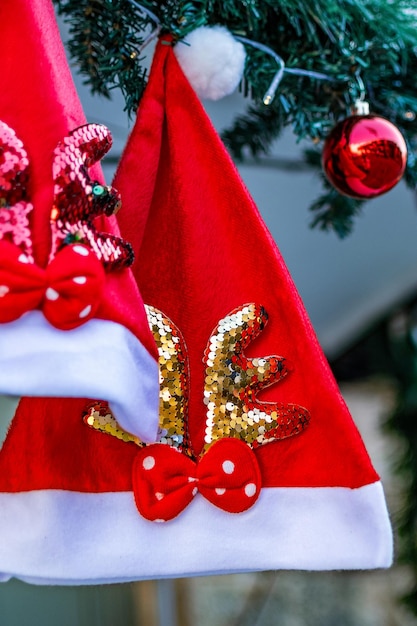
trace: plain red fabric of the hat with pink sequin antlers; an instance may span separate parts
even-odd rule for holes
[[[85,123],[51,0],[0,2],[0,119],[23,142],[30,164],[28,196],[35,261],[47,264],[51,247],[53,150]],[[92,168],[103,181],[101,168]],[[123,210],[123,209],[122,209]],[[116,219],[100,217],[99,231],[119,234]],[[143,302],[130,271],[109,273],[96,317],[127,326],[156,356]]]

